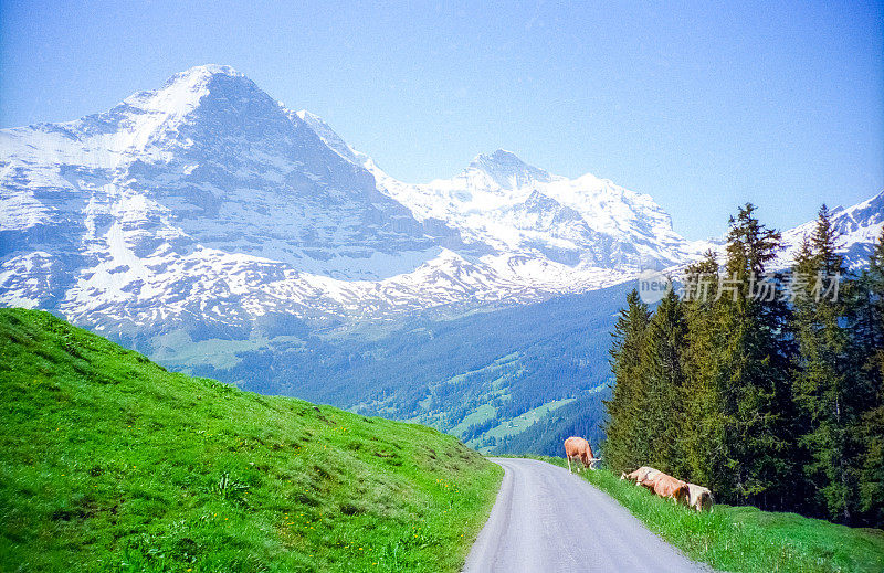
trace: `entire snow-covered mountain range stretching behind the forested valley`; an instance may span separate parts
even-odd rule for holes
[[[864,241],[882,205],[860,206]],[[0,130],[0,303],[120,332],[536,301],[696,253],[649,195],[503,150],[397,181],[227,66]]]

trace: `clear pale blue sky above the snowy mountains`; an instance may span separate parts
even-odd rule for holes
[[[882,2],[439,4],[0,0],[0,126],[220,63],[399,179],[509,149],[650,193],[688,238],[884,189]]]

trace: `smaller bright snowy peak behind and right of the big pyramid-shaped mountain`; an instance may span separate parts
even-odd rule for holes
[[[378,189],[419,220],[440,220],[494,253],[529,254],[586,268],[669,266],[694,254],[672,220],[646,194],[586,174],[578,179],[529,166],[509,151],[480,155],[460,174],[427,184],[389,177],[317,116],[298,112],[340,157],[360,165]]]

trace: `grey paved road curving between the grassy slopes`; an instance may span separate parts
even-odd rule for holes
[[[545,461],[490,458],[505,475],[465,573],[708,572],[620,503]]]

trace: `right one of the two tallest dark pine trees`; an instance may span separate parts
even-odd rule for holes
[[[860,376],[852,364],[851,338],[843,326],[850,295],[839,234],[823,205],[813,234],[796,258],[794,332],[798,372],[793,393],[801,416],[804,474],[815,501],[831,519],[850,522],[856,509],[861,450]],[[839,285],[839,295],[830,287]]]

